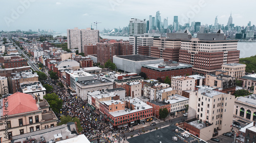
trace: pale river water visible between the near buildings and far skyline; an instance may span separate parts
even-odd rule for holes
[[[67,36],[67,32],[63,32],[61,34],[54,34],[53,37],[56,37],[58,35]],[[104,39],[129,40],[129,37],[123,36],[100,35],[100,37]],[[256,42],[238,42],[238,50],[240,50],[240,58],[246,58],[252,55],[256,55]]]

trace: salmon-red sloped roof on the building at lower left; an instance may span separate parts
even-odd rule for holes
[[[8,115],[38,110],[32,95],[16,92],[8,97]]]

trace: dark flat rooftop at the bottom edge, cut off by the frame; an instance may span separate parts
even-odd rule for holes
[[[176,132],[176,131],[177,132]],[[182,134],[188,134],[187,138],[181,138]],[[177,141],[173,140],[174,138],[178,138]],[[153,141],[154,140],[154,141]],[[161,143],[169,143],[169,142],[177,142],[177,143],[184,143],[184,142],[198,142],[198,143],[207,143],[206,141],[203,141],[202,139],[185,132],[183,129],[170,125],[168,127],[158,129],[152,132],[148,132],[136,137],[132,137],[127,139],[130,143],[141,143],[141,142],[161,142]]]

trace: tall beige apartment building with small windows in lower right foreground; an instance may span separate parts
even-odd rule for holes
[[[196,117],[194,121],[184,122],[184,129],[203,140],[209,140],[230,131],[234,98],[230,94],[207,89],[191,91],[188,118]]]

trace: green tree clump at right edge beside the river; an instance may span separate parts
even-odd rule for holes
[[[246,64],[245,72],[256,71],[256,55],[247,58],[240,58],[239,63]]]

